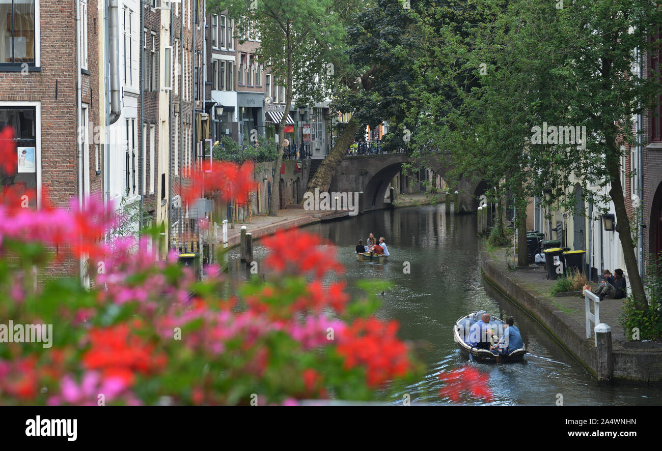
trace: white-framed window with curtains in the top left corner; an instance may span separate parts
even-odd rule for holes
[[[0,0],[0,64],[35,63],[34,0]]]

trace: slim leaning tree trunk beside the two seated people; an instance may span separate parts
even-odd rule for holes
[[[617,155],[617,153],[614,152],[612,155]],[[609,196],[612,198],[614,210],[616,210],[616,231],[618,232],[618,239],[620,239],[621,248],[623,249],[623,259],[625,260],[625,267],[628,271],[628,278],[630,279],[630,288],[634,295],[636,308],[643,310],[648,307],[648,302],[646,300],[646,292],[643,290],[643,282],[641,282],[637,258],[634,255],[630,218],[628,218],[628,212],[625,209],[625,198],[623,196],[623,186],[620,183],[618,159],[608,159],[607,167],[612,179]]]

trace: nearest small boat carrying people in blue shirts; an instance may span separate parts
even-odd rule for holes
[[[526,345],[512,317],[503,321],[485,310],[469,313],[455,321],[453,339],[460,353],[476,362],[521,362],[526,354]]]

